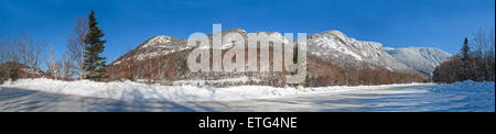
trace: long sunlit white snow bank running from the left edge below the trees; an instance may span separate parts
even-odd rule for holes
[[[161,86],[132,81],[95,82],[89,80],[58,81],[52,79],[20,79],[7,81],[1,88],[37,90],[83,97],[110,98],[125,101],[237,101],[280,97],[315,96],[322,93],[395,88],[408,85],[274,88],[268,86],[238,86],[228,88],[200,88],[193,86]],[[423,83],[422,83],[423,85]]]

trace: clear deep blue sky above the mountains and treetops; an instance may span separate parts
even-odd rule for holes
[[[320,33],[339,30],[389,47],[457,53],[463,37],[495,25],[495,0],[0,0],[0,38],[26,33],[64,51],[77,15],[95,9],[108,63],[153,35],[193,32]]]

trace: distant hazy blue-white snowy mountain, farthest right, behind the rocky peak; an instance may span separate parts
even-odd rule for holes
[[[435,67],[452,56],[450,53],[432,47],[386,47],[385,51],[397,60],[427,76],[432,76]]]

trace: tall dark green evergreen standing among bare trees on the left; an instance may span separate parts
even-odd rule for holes
[[[88,16],[88,27],[89,32],[86,34],[85,43],[86,46],[86,60],[85,60],[85,70],[86,79],[91,80],[103,80],[107,75],[105,72],[105,57],[101,57],[100,54],[104,52],[104,44],[106,41],[100,40],[104,37],[104,33],[97,26],[98,22],[95,18],[95,11],[91,10],[91,14]]]

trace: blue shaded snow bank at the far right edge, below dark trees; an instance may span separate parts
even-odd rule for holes
[[[463,81],[455,83],[443,83],[433,87],[430,93],[451,94],[452,97],[465,97],[467,107],[481,111],[494,111],[495,105],[494,81],[475,82]]]

